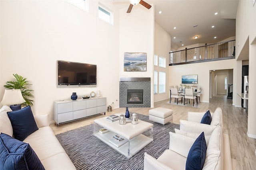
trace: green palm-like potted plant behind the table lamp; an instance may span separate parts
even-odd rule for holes
[[[27,80],[27,78],[24,78],[18,74],[13,74],[16,81],[8,81],[6,82],[6,85],[4,85],[5,88],[8,89],[20,89],[22,97],[26,101],[23,103],[23,106],[33,106],[34,100],[31,98],[34,98],[32,92],[34,90],[29,89],[29,87],[32,85],[30,84],[30,81]]]

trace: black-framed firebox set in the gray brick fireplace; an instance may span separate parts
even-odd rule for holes
[[[127,89],[127,104],[143,104],[143,89]]]

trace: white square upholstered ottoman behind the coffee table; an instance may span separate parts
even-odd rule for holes
[[[172,121],[172,109],[156,107],[154,109],[150,109],[148,113],[149,119],[154,122],[161,123],[164,125],[167,122]]]

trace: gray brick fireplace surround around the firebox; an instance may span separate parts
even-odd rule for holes
[[[143,89],[143,104],[127,104],[127,89]],[[119,107],[151,107],[150,77],[120,78]]]

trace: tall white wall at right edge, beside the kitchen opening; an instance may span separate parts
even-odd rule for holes
[[[256,55],[256,4],[253,6],[251,0],[240,0],[238,3],[238,10],[236,14],[236,59],[243,59],[243,53],[246,52],[249,55],[249,87],[254,86],[256,82],[256,77],[254,76],[256,72],[255,64],[255,55]],[[246,44],[249,44],[248,45]],[[237,61],[237,69],[242,74],[242,61]],[[238,73],[239,74],[239,73]],[[238,77],[239,78],[239,77]],[[242,84],[242,76],[236,81],[236,84]],[[241,88],[236,89],[237,92]],[[249,100],[248,100],[248,131],[247,134],[249,137],[256,138],[256,91],[254,88],[250,88],[249,91]],[[251,95],[252,94],[252,95]],[[240,100],[236,101],[236,105],[240,106]]]

